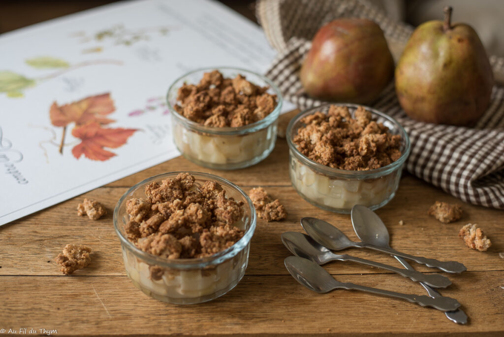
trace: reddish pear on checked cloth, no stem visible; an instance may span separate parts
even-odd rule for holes
[[[379,25],[338,19],[314,36],[300,79],[305,92],[331,101],[368,103],[394,76],[394,60]]]

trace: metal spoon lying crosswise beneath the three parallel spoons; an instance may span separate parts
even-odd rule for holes
[[[362,205],[355,205],[351,212],[352,225],[355,233],[363,242],[371,243],[376,246],[382,246],[390,248],[389,246],[389,232],[387,227],[383,223],[382,219],[376,215],[369,208]],[[374,235],[373,235],[374,234]],[[377,235],[377,236],[376,236]],[[369,240],[369,241],[367,241]],[[406,262],[403,258],[394,256],[406,269],[414,270],[413,267]],[[428,287],[427,285],[421,283],[422,287],[425,288],[427,293],[432,298],[438,298],[442,296],[434,289]],[[448,319],[459,324],[467,324],[467,315],[461,309],[456,311],[445,312]]]

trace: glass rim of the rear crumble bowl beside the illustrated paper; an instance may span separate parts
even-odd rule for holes
[[[199,72],[209,72],[209,71],[221,70],[221,69],[222,70],[237,71],[240,75],[241,75],[241,73],[245,73],[244,75],[251,74],[251,75],[254,75],[254,76],[261,78],[263,81],[268,83],[270,88],[273,89],[273,91],[275,92],[275,95],[277,96],[277,105],[275,106],[273,111],[271,111],[271,113],[268,116],[266,116],[265,118],[263,118],[260,121],[257,121],[255,123],[251,123],[248,125],[244,125],[241,127],[237,127],[237,128],[208,127],[208,126],[204,126],[199,123],[193,122],[193,121],[183,117],[179,113],[177,113],[177,111],[171,105],[171,102],[170,102],[168,96],[175,89],[178,90],[178,88],[180,87],[178,82],[183,80],[187,76],[190,76],[190,75],[193,75],[193,74],[196,74]],[[175,87],[175,85],[177,87]],[[192,70],[190,72],[187,72],[187,73],[183,74],[182,76],[178,77],[175,81],[173,81],[173,83],[168,88],[168,92],[166,93],[166,103],[168,105],[168,109],[170,110],[171,115],[174,118],[176,118],[177,120],[179,120],[180,122],[184,123],[186,126],[190,127],[191,129],[195,129],[195,130],[203,132],[203,133],[214,134],[214,135],[239,135],[239,134],[244,134],[244,133],[249,133],[249,132],[254,132],[254,131],[264,129],[267,126],[269,126],[270,124],[272,124],[273,122],[275,122],[278,119],[278,116],[280,116],[280,110],[282,109],[282,104],[283,104],[283,96],[282,96],[282,93],[280,92],[280,89],[277,87],[277,85],[275,83],[273,83],[272,80],[270,80],[266,76],[261,75],[259,73],[256,73],[256,72],[253,72],[250,70],[246,70],[243,68],[235,68],[235,67],[204,67],[204,68],[198,68],[198,69]]]

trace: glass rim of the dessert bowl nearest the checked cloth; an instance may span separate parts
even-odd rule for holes
[[[293,131],[292,129],[294,128],[294,124],[296,124],[302,117],[313,114],[316,111],[321,111],[321,109],[327,108],[331,105],[347,106],[355,109],[358,108],[359,106],[362,106],[364,109],[368,110],[371,114],[378,115],[386,119],[387,121],[391,122],[393,125],[397,127],[401,136],[404,136],[406,150],[404,151],[404,153],[401,154],[401,157],[399,157],[399,159],[397,159],[396,161],[380,168],[374,168],[373,170],[365,170],[365,171],[341,170],[339,168],[329,167],[309,159],[297,149],[296,145],[292,141],[292,131]],[[321,112],[323,114],[327,114],[327,111],[326,113],[324,113],[323,111]],[[411,150],[411,143],[409,140],[408,133],[406,132],[406,130],[404,130],[403,126],[398,121],[370,106],[362,104],[353,104],[353,103],[326,103],[302,110],[299,114],[297,114],[290,120],[289,125],[287,126],[286,138],[289,149],[295,154],[295,156],[298,159],[304,160],[306,164],[312,166],[315,170],[322,172],[327,176],[351,178],[351,179],[372,179],[372,178],[379,178],[386,174],[389,174],[402,166],[402,164],[408,158],[408,155],[410,154]]]

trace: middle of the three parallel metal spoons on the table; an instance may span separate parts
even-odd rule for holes
[[[366,264],[373,267],[378,267],[398,273],[401,276],[409,277],[415,282],[424,282],[432,287],[446,288],[452,284],[448,277],[439,274],[422,274],[416,270],[407,270],[396,268],[387,264],[378,263],[361,259],[350,255],[334,254],[326,247],[318,244],[309,236],[297,232],[285,232],[282,234],[282,242],[287,249],[294,255],[311,260],[317,264],[324,264],[334,260],[353,261],[361,264]]]

